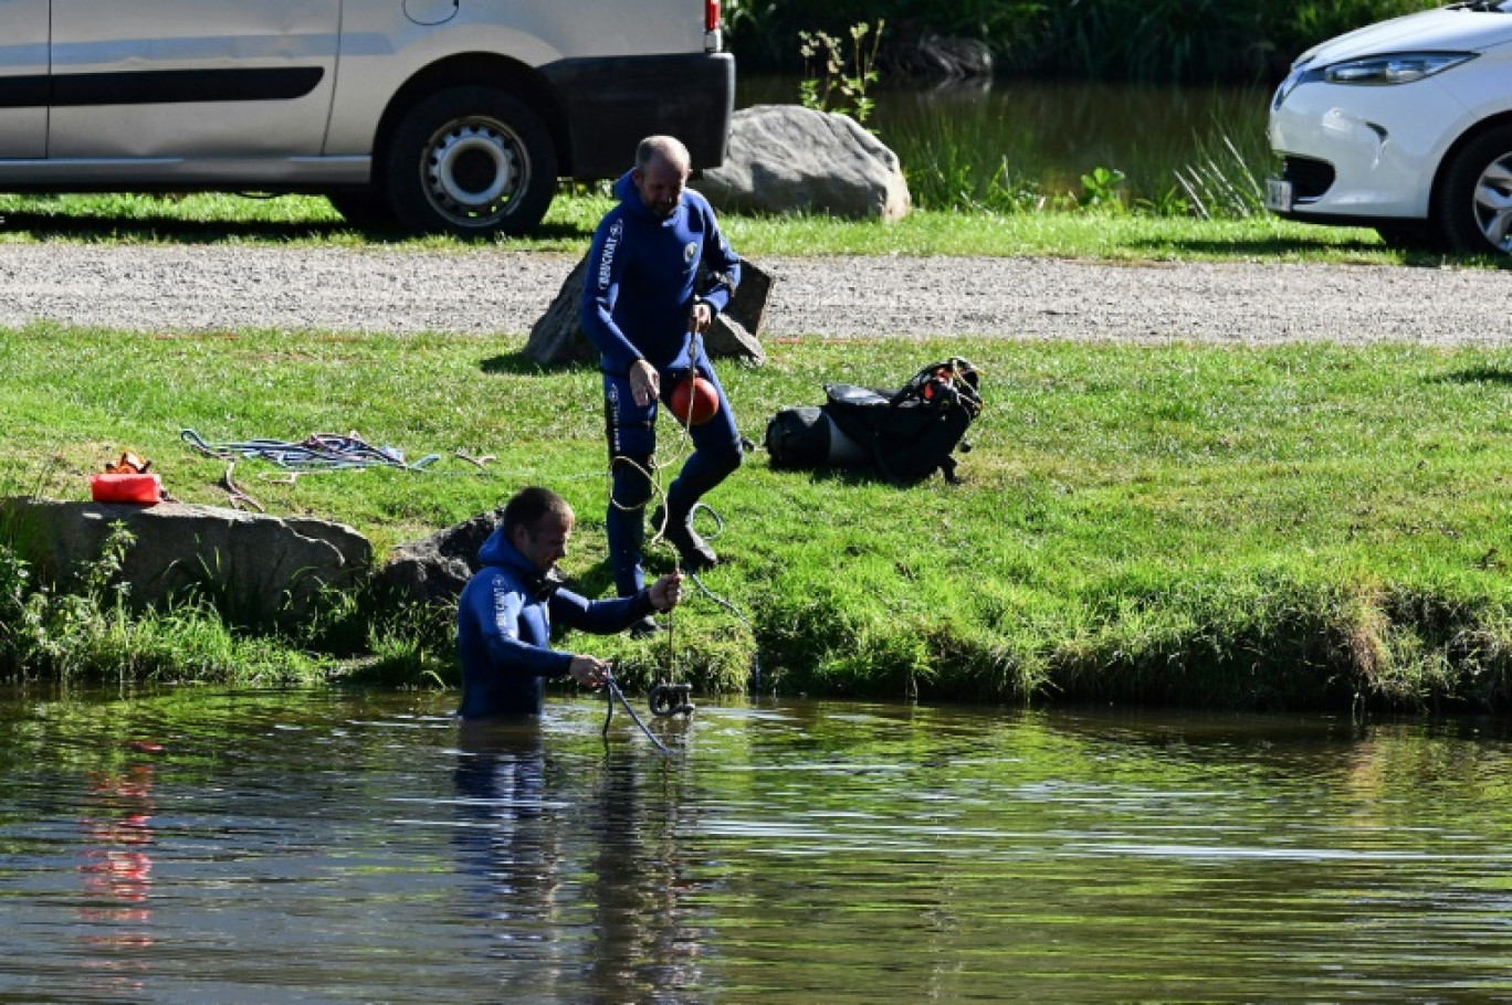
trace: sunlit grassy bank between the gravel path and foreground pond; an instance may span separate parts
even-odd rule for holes
[[[522,345],[0,332],[8,481],[11,491],[85,499],[86,473],[132,447],[178,499],[224,503],[224,462],[189,450],[181,428],[209,440],[357,429],[443,461],[292,485],[245,462],[237,481],[271,512],[351,523],[380,550],[547,484],[581,518],[567,571],[602,594],[599,378],[540,372],[520,360]],[[705,688],[741,688],[759,656],[764,686],[788,694],[1393,707],[1512,698],[1512,354],[969,334],[770,349],[765,367],[723,367],[756,440],[777,408],[816,404],[824,381],[897,384],[936,357],[972,358],[987,373],[989,411],[963,458],[966,484],[897,490],[771,472],[758,453],[709,500],[730,561],[705,582],[744,621],[699,595],[677,614],[670,656],[665,641],[575,639],[614,654],[631,679],[674,660],[676,676]],[[671,465],[677,440],[670,429],[665,440]],[[457,449],[497,459],[478,470],[451,456]],[[348,597],[284,650],[308,660],[301,673],[352,654],[370,669],[376,656],[387,680],[434,683],[454,679],[448,624],[446,611]]]

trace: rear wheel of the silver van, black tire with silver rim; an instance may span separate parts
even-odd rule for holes
[[[449,88],[399,121],[384,154],[389,204],[407,230],[520,236],[556,195],[556,148],[538,115],[494,88]]]

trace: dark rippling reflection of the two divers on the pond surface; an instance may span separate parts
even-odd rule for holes
[[[458,741],[458,863],[478,880],[500,994],[700,1000],[680,994],[702,984],[703,942],[668,825],[676,768],[624,744],[596,765],[553,757],[534,721],[464,722]]]

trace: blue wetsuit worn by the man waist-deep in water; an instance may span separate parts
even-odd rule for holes
[[[510,544],[503,527],[478,549],[482,568],[457,606],[457,648],[463,663],[463,718],[540,715],[546,679],[565,677],[572,653],[550,648],[552,621],[611,635],[652,612],[647,591],[617,600],[588,600],[552,589]]]

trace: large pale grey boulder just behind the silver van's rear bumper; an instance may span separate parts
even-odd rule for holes
[[[736,213],[901,219],[912,209],[898,156],[856,119],[797,104],[735,113],[724,165],[699,190]]]

